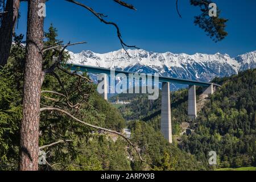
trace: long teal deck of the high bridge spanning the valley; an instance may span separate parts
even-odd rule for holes
[[[90,67],[90,66],[86,66],[86,65],[68,64],[68,67],[72,71],[81,71],[81,72],[88,72],[88,73],[95,73],[95,74],[105,73],[107,75],[110,75],[110,73],[111,73],[110,69],[100,68],[100,67]],[[115,70],[115,76],[118,75],[119,73],[123,73],[127,77],[129,77],[129,74],[131,72]],[[153,79],[154,79],[154,76],[153,76]],[[159,81],[160,82],[171,82],[171,83],[176,83],[176,84],[184,84],[184,85],[205,86],[205,87],[208,87],[210,85],[220,86],[218,84],[214,84],[214,83],[210,83],[210,82],[202,82],[202,81],[195,81],[195,80],[185,80],[185,79],[180,79],[180,78],[170,78],[170,77],[160,77],[160,76],[159,76]]]

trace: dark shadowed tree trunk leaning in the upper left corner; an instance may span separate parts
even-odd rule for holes
[[[19,0],[7,0],[5,11],[7,13],[3,14],[0,28],[0,66],[7,64],[10,54],[15,23],[19,14]]]

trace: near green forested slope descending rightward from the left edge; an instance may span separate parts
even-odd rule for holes
[[[45,46],[59,42],[52,26],[45,36]],[[22,39],[22,35],[15,36],[8,64],[0,71],[1,170],[18,169],[19,164],[26,51]],[[55,53],[52,50],[44,53],[44,68],[56,60]],[[63,62],[67,59],[64,53]],[[89,80],[86,73],[73,76],[68,69],[46,75],[40,103],[45,110],[40,113],[39,137],[40,151],[46,152],[46,163],[39,165],[40,170],[207,169],[195,156],[168,143],[150,124],[143,121],[126,123],[118,110],[98,95],[96,85],[86,79]],[[129,127],[132,130],[130,140],[146,162],[139,160],[134,147],[122,137],[86,126],[74,118],[118,132]]]

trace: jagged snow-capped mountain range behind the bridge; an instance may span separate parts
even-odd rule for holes
[[[159,73],[160,76],[179,77],[190,80],[210,81],[214,77],[237,74],[245,69],[256,68],[256,51],[237,57],[216,53],[157,53],[143,49],[127,49],[108,53],[82,51],[69,52],[69,63],[93,67],[115,68],[128,72]]]

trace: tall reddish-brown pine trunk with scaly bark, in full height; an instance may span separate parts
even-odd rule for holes
[[[27,53],[24,75],[23,120],[20,129],[20,170],[38,170],[40,93],[42,78],[43,22],[39,3],[28,1]]]

